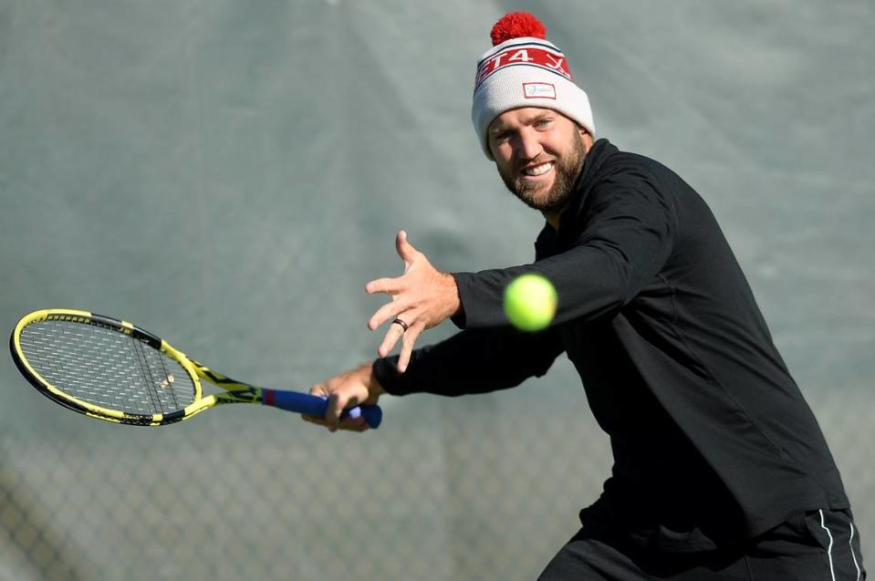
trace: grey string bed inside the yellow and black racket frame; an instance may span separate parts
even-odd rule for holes
[[[182,365],[120,331],[69,321],[41,321],[22,329],[27,363],[69,397],[126,413],[180,410],[194,400]]]

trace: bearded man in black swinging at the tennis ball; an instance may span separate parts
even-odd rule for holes
[[[446,274],[399,233],[405,273],[380,358],[311,389],[344,408],[381,394],[518,385],[565,352],[612,475],[542,579],[862,579],[859,536],[828,446],[699,195],[656,161],[594,140],[589,99],[529,15],[505,16],[478,63],[474,128],[508,189],[544,214],[532,265]],[[553,282],[545,331],[508,327],[516,276]],[[464,330],[414,349],[452,317]],[[399,356],[387,358],[401,339]]]

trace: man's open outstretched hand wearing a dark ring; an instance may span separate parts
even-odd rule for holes
[[[425,254],[407,241],[407,233],[403,230],[395,237],[395,250],[404,262],[404,274],[397,278],[372,280],[365,285],[365,290],[369,294],[386,293],[392,299],[370,317],[368,328],[371,331],[386,321],[400,319],[404,323],[392,323],[377,349],[380,357],[386,357],[401,339],[398,371],[403,373],[422,331],[453,316],[459,310],[460,302],[453,275],[432,266]]]

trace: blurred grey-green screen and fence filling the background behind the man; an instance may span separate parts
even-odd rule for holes
[[[363,287],[401,271],[398,229],[445,270],[529,262],[539,216],[469,120],[489,29],[520,8],[568,54],[599,136],[712,205],[871,559],[870,0],[0,0],[0,327],[89,309],[306,390],[374,356]],[[86,420],[8,357],[0,393],[15,581],[534,578],[610,468],[565,358],[499,394],[387,398],[363,436],[248,407]]]

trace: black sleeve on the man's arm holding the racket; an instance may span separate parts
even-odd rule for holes
[[[556,329],[523,333],[510,327],[465,330],[414,349],[407,370],[398,356],[374,361],[373,371],[392,395],[425,392],[443,396],[508,389],[547,373],[563,350]]]

